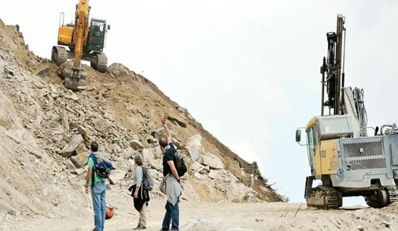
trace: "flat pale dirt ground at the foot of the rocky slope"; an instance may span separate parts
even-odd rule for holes
[[[106,231],[129,231],[137,225],[138,213],[132,198],[109,192],[115,216],[106,221]],[[157,198],[148,207],[148,231],[158,231],[164,216],[165,199]],[[199,203],[182,201],[182,231],[395,231],[398,230],[398,205],[385,209],[340,209],[321,211],[291,203]],[[88,209],[88,208],[87,208]],[[23,223],[9,221],[0,230],[10,231],[91,231],[92,215],[75,219],[36,217]],[[0,223],[1,224],[1,223]]]

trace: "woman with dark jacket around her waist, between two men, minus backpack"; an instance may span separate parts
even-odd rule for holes
[[[134,177],[133,177],[133,186],[130,187],[131,196],[134,197],[134,208],[140,213],[140,219],[138,220],[138,226],[133,230],[143,230],[146,229],[146,207],[148,206],[149,201],[149,193],[148,190],[143,189],[142,186],[142,157],[140,155],[136,155],[134,157]]]

